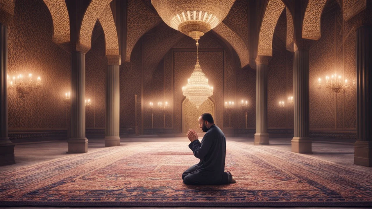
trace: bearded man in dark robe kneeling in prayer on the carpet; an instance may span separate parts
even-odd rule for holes
[[[191,166],[182,174],[185,184],[227,184],[236,183],[230,171],[225,171],[226,138],[221,129],[214,124],[211,114],[203,113],[199,117],[199,127],[203,132],[202,142],[199,142],[195,130],[187,132],[191,141],[189,148],[195,157],[199,158],[198,164]]]

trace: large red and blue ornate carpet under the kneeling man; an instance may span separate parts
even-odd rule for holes
[[[0,205],[372,206],[372,174],[270,146],[227,142],[236,184],[189,186],[187,142],[138,142],[0,172]]]

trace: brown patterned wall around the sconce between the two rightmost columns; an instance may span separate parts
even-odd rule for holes
[[[336,96],[327,89],[317,89],[317,79],[341,74],[355,81],[355,29],[343,22],[340,7],[330,1],[321,19],[321,38],[310,49],[310,128],[355,129],[356,90],[351,86]],[[337,101],[337,102],[336,102]]]

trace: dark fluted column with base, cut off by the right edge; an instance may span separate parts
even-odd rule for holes
[[[356,134],[354,163],[372,167],[372,26],[356,29]]]

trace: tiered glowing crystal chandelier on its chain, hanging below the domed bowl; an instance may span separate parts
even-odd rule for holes
[[[182,94],[190,102],[194,103],[196,108],[213,94],[213,87],[209,86],[208,78],[205,77],[199,65],[199,43],[196,40],[196,65],[191,77],[187,79],[186,86],[182,87]]]

